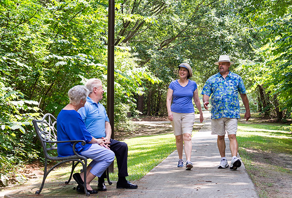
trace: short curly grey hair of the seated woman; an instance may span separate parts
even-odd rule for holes
[[[89,95],[89,90],[84,85],[76,85],[68,91],[70,104],[78,105],[80,100],[85,100]]]

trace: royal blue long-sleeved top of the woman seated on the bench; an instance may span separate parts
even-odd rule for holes
[[[80,116],[75,110],[62,109],[57,117],[57,140],[84,140],[89,143],[92,140],[92,136],[87,131],[86,126]],[[76,144],[76,151],[88,150],[92,144],[86,144],[85,146],[80,143]],[[74,155],[73,143],[59,143],[57,152],[60,157]]]

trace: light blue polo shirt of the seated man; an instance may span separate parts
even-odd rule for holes
[[[106,110],[101,103],[94,102],[87,97],[84,107],[81,107],[80,113],[87,130],[95,138],[105,137],[105,121],[109,122]]]

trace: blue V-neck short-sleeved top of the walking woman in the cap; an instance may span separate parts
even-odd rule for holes
[[[169,85],[173,90],[171,111],[176,113],[194,113],[193,97],[197,89],[195,81],[189,80],[187,86],[183,87],[179,84],[178,80],[172,81]]]

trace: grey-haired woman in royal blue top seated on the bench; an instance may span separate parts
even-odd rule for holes
[[[77,85],[68,91],[70,103],[60,111],[57,117],[57,137],[58,141],[84,140],[87,143],[85,146],[78,143],[76,151],[80,155],[93,159],[87,167],[86,187],[90,194],[97,194],[97,190],[92,189],[90,182],[95,177],[102,175],[114,160],[115,155],[110,149],[99,146],[102,142],[91,136],[77,112],[79,108],[84,106],[88,94],[88,89],[82,85]],[[62,157],[74,155],[72,147],[72,143],[59,143],[58,155]],[[76,191],[84,193],[84,174],[75,173],[73,178],[78,184]]]

